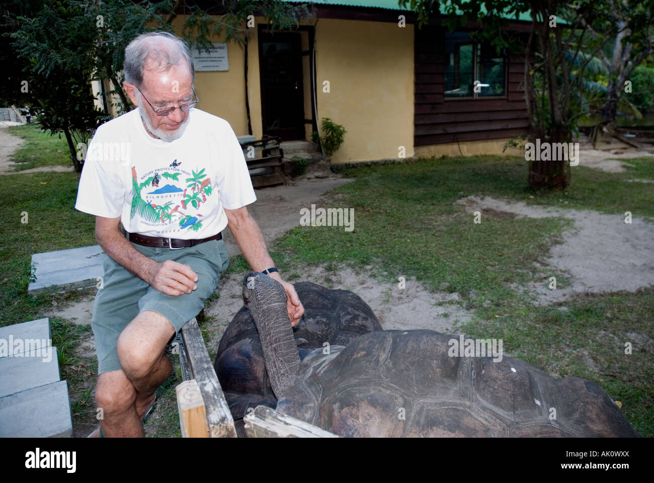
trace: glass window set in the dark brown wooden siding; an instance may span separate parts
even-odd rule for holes
[[[477,80],[479,82],[475,82]],[[466,32],[446,32],[445,98],[488,98],[505,95],[504,56],[498,56],[492,46],[473,42]]]

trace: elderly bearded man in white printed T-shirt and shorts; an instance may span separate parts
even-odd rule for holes
[[[168,33],[139,35],[125,50],[124,73],[138,108],[97,129],[75,206],[95,215],[95,238],[109,255],[92,317],[103,419],[91,436],[104,437],[143,437],[154,391],[171,374],[165,346],[229,264],[226,226],[252,269],[286,289],[291,325],[304,313],[247,211],[256,196],[230,124],[193,109],[186,45]]]

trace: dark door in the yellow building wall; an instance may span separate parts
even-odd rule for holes
[[[304,139],[300,33],[261,32],[259,71],[264,134],[282,141]]]

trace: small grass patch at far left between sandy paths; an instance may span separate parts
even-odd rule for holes
[[[12,158],[16,162],[16,171],[41,166],[73,166],[68,143],[63,134],[60,137],[59,134],[43,133],[38,124],[10,126],[7,130],[26,141]]]

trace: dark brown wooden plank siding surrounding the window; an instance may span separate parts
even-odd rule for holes
[[[445,29],[415,29],[415,146],[526,134],[524,58],[509,55],[506,97],[445,99]]]

